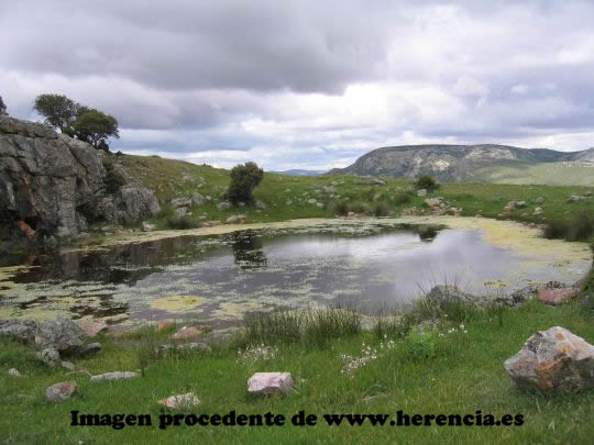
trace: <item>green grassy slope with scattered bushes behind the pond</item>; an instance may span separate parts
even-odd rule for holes
[[[594,191],[592,187],[584,186],[444,183],[427,197],[417,197],[407,192],[411,181],[403,179],[383,178],[387,183],[377,186],[353,176],[300,177],[268,173],[254,190],[255,199],[262,201],[265,209],[252,205],[219,211],[217,203],[224,199],[230,182],[229,170],[150,156],[122,155],[116,157],[113,163],[119,165],[119,170],[124,173],[129,181],[141,182],[155,191],[164,209],[164,213],[151,220],[157,229],[169,229],[167,215],[173,211],[168,203],[173,198],[189,198],[195,192],[211,200],[204,205],[193,204],[189,208],[190,214],[185,216],[189,226],[199,226],[204,220],[224,222],[238,213],[244,214],[248,223],[333,218],[350,211],[369,215],[398,215],[405,208],[411,207],[429,213],[429,209],[422,204],[431,196],[443,197],[452,207],[461,208],[463,216],[482,214],[486,218],[548,223],[568,222],[579,213],[594,214],[594,199],[566,202],[570,194]],[[333,192],[326,192],[328,188],[332,188]],[[538,204],[538,198],[543,198],[544,202]],[[308,203],[309,199],[316,199],[322,207]],[[526,201],[527,208],[514,209],[508,215],[498,216],[508,201]],[[542,208],[542,214],[534,214],[537,207]]]

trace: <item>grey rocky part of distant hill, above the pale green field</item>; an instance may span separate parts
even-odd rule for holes
[[[329,175],[372,175],[414,179],[430,175],[440,181],[490,182],[485,169],[525,168],[546,163],[593,163],[594,148],[583,152],[556,152],[506,145],[404,145],[383,147],[361,156],[346,168]],[[594,176],[594,169],[592,170]],[[546,178],[543,182],[546,183]]]

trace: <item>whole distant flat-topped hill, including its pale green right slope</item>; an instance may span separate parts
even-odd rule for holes
[[[561,167],[551,177],[551,167]],[[539,168],[535,168],[538,166]],[[507,145],[404,145],[374,149],[328,175],[414,179],[430,175],[442,182],[594,185],[594,148],[557,152]],[[552,169],[554,170],[554,168]],[[526,173],[529,171],[528,175]],[[559,173],[562,171],[562,175]]]

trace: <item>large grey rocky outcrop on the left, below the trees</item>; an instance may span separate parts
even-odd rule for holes
[[[90,144],[0,116],[0,222],[67,237],[95,220],[129,224],[158,211],[154,194],[139,186],[108,194],[106,175]]]

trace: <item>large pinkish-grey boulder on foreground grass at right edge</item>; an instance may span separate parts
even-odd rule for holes
[[[594,346],[554,326],[530,336],[504,367],[521,388],[575,392],[594,387]]]

